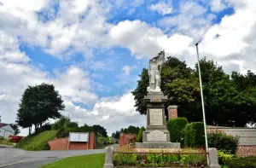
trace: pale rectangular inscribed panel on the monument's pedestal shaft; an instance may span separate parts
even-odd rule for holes
[[[149,109],[149,125],[152,125],[152,126],[163,125],[162,109]]]

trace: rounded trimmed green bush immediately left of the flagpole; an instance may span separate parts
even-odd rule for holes
[[[185,146],[191,148],[205,147],[204,124],[202,122],[194,122],[186,125],[184,129]]]

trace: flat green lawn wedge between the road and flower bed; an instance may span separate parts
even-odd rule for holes
[[[61,159],[40,168],[102,168],[105,154],[90,154]]]

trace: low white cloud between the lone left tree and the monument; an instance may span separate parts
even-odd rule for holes
[[[110,136],[115,130],[129,125],[146,126],[146,116],[136,112],[134,98],[131,93],[120,97],[106,97],[96,102],[92,111],[67,103],[66,113],[79,125],[102,125]]]

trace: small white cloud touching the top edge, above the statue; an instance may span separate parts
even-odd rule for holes
[[[160,1],[160,3],[150,5],[148,9],[152,11],[157,11],[159,14],[162,15],[172,14],[172,1],[168,1],[167,3],[165,1]]]

